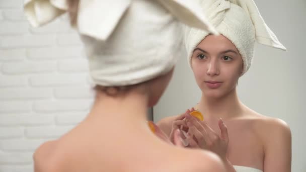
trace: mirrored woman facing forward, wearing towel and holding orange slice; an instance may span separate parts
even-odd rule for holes
[[[240,76],[251,65],[256,41],[285,48],[252,0],[203,1],[202,7],[221,34],[186,29],[188,61],[202,97],[185,114],[162,119],[158,126],[170,138],[183,126],[188,146],[217,153],[228,171],[290,171],[291,132],[287,124],[249,109],[236,91]],[[189,115],[194,110],[203,114],[204,121]]]

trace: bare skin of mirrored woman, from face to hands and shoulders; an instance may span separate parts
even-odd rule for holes
[[[233,165],[264,172],[291,171],[289,126],[251,110],[238,98],[243,60],[235,45],[222,35],[209,35],[195,48],[191,66],[202,91],[193,108],[204,115],[204,121],[192,118],[187,110],[162,119],[158,126],[170,138],[175,129],[184,126],[191,139],[189,147],[217,153],[227,171],[235,171]]]

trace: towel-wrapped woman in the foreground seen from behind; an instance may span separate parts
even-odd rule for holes
[[[36,150],[35,171],[224,171],[214,153],[168,144],[146,123],[146,110],[162,96],[177,60],[176,19],[214,32],[193,7],[189,1],[26,2],[34,26],[69,11],[97,91],[83,122]]]

